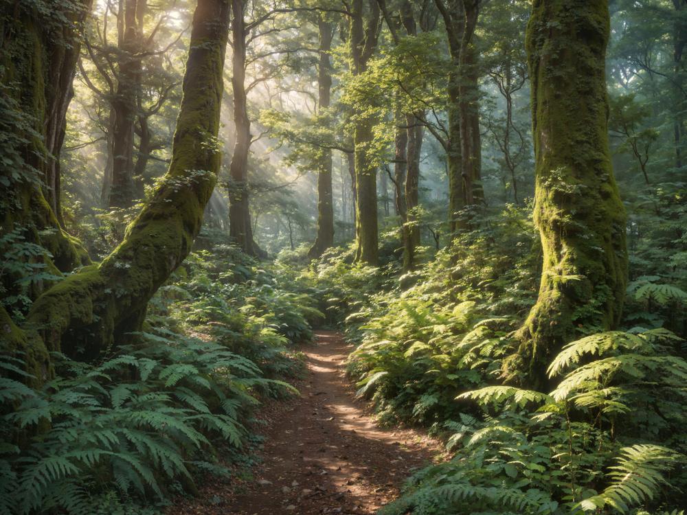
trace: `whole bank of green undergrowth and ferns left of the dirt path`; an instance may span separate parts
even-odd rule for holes
[[[261,400],[294,392],[322,314],[294,273],[204,241],[101,363],[55,355],[39,390],[0,354],[0,514],[152,514],[230,477]]]

